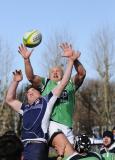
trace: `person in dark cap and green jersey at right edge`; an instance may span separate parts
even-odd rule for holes
[[[115,143],[111,131],[103,133],[103,147],[100,150],[100,154],[104,160],[115,160]]]

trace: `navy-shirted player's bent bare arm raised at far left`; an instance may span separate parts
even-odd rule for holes
[[[20,71],[16,70],[15,72],[13,72],[13,80],[8,88],[6,95],[6,103],[17,112],[20,111],[22,103],[16,99],[16,90],[19,82],[22,79],[23,76],[21,70]]]

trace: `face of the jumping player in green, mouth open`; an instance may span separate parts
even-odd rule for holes
[[[50,70],[49,78],[53,81],[60,81],[63,77],[63,70],[61,67],[53,67]]]

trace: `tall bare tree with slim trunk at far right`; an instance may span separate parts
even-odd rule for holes
[[[107,128],[111,123],[110,80],[113,76],[115,38],[108,28],[98,31],[92,39],[91,51],[96,71],[103,82],[104,120]]]

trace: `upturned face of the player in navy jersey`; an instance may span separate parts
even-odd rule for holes
[[[27,95],[28,103],[32,104],[33,102],[35,102],[36,99],[40,97],[40,92],[35,88],[30,88],[27,91],[26,95]]]

